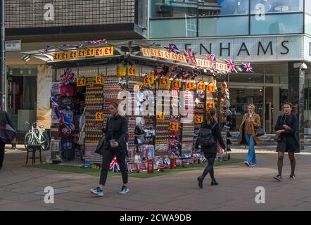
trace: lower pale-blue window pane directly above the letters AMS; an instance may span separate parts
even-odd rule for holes
[[[250,18],[250,34],[300,34],[303,33],[303,14],[265,15],[265,20],[257,16]]]

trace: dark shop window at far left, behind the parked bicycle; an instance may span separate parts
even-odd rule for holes
[[[8,67],[8,114],[15,129],[28,131],[25,122],[37,120],[37,66]]]

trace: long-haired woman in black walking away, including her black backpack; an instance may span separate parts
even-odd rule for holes
[[[205,158],[208,160],[208,167],[205,168],[202,176],[198,177],[198,186],[203,188],[203,181],[205,176],[210,174],[212,179],[212,186],[218,185],[214,177],[214,163],[217,157],[217,141],[220,143],[222,149],[225,149],[224,140],[220,132],[220,125],[217,122],[216,110],[211,108],[205,115],[205,120],[201,125],[200,135],[196,141],[195,150],[201,145]]]

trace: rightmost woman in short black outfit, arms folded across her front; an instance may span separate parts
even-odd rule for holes
[[[296,159],[295,153],[300,152],[300,146],[296,136],[298,131],[298,118],[296,116],[296,108],[291,103],[284,103],[284,115],[279,116],[277,124],[275,125],[275,131],[279,135],[279,141],[277,145],[277,152],[279,153],[278,168],[279,175],[274,176],[274,179],[281,181],[284,153],[288,153],[289,160],[291,161],[291,175],[289,179],[296,179]]]

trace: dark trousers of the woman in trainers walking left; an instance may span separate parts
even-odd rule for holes
[[[101,168],[101,180],[99,182],[99,184],[103,186],[106,184],[110,163],[113,161],[115,156],[117,157],[117,161],[121,169],[123,184],[128,183],[129,175],[127,171],[126,151],[122,151],[118,148],[108,148],[103,151],[103,167]]]

